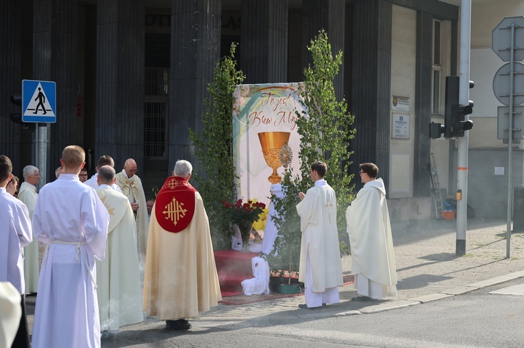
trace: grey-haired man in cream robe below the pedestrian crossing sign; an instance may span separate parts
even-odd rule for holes
[[[38,168],[33,165],[26,165],[23,169],[24,182],[20,185],[18,191],[18,199],[27,206],[29,211],[29,219],[33,218],[34,206],[38,199],[38,193],[36,193],[36,184],[40,180],[40,174]],[[36,293],[38,290],[38,277],[40,276],[40,265],[41,258],[43,257],[43,248],[45,245],[41,245],[40,249],[42,252],[38,252],[39,245],[36,239],[33,239],[32,243],[24,247],[24,278],[25,278],[25,293]],[[41,254],[42,256],[39,256]]]

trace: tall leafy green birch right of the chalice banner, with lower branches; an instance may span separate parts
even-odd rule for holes
[[[316,161],[327,163],[325,180],[336,193],[338,230],[345,231],[346,209],[353,200],[353,187],[349,174],[349,141],[353,139],[354,116],[347,112],[345,99],[338,102],[334,90],[334,78],[342,64],[342,52],[332,56],[332,48],[325,31],[320,31],[311,41],[308,50],[312,53],[312,66],[304,70],[305,81],[299,87],[302,97],[303,114],[297,111],[298,133],[301,135],[299,159],[300,176],[286,172],[282,180],[284,198],[272,197],[277,215],[273,222],[279,231],[274,250],[266,257],[273,270],[284,270],[290,275],[299,269],[300,217],[296,206],[299,191],[305,192],[311,186],[310,165]],[[347,245],[340,245],[342,251]],[[282,272],[281,272],[282,275]]]

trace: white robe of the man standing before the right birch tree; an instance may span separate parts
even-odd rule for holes
[[[335,191],[325,180],[316,180],[314,187],[308,189],[304,199],[297,204],[297,212],[302,231],[299,281],[305,283],[309,257],[311,291],[323,293],[326,289],[344,285],[336,227]]]

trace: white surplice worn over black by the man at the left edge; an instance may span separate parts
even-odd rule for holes
[[[32,240],[27,207],[0,187],[0,282],[10,282],[20,295],[25,293],[22,248]]]

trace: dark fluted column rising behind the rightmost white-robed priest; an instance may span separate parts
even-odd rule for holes
[[[353,9],[350,107],[357,133],[351,142],[351,170],[355,174],[360,163],[373,162],[389,189],[392,3],[356,0]]]

